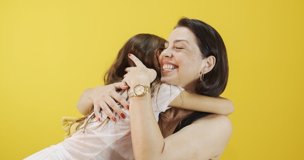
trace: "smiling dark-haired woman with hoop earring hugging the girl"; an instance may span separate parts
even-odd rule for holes
[[[139,83],[149,87],[155,73],[135,56],[130,58],[136,67],[126,68],[128,75],[123,81],[131,89]],[[215,29],[200,20],[180,19],[159,63],[163,68],[161,81],[188,92],[217,97],[226,87],[228,60],[224,43]],[[94,103],[97,108],[105,107],[113,100],[111,97],[119,97],[113,91],[103,94],[103,101]],[[151,109],[149,94],[130,98],[132,144],[138,160],[218,160],[232,134],[231,121],[225,115],[206,116],[171,108],[161,114],[158,125]]]

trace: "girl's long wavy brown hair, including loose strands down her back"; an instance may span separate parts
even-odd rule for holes
[[[116,60],[105,73],[103,78],[104,83],[107,85],[123,80],[123,75],[126,74],[124,69],[129,66],[135,66],[134,62],[128,57],[128,54],[132,53],[138,59],[140,59],[141,62],[146,65],[146,67],[154,69],[157,73],[156,79],[151,84],[151,96],[153,96],[155,88],[161,84],[160,64],[158,62],[157,52],[164,49],[165,42],[166,40],[164,38],[147,33],[141,33],[131,37],[118,51]],[[125,91],[120,91],[120,93],[123,92]],[[80,125],[77,126],[76,130],[83,129],[84,132],[84,129],[87,127],[87,125],[91,122],[94,122],[93,120],[95,118],[95,114],[92,114],[92,112],[94,112],[93,106],[86,116],[76,119],[70,125],[70,127],[74,123],[80,122]],[[105,119],[101,125],[107,123],[108,121],[109,117],[107,117],[107,119]],[[101,125],[97,126],[96,128],[99,128]]]

